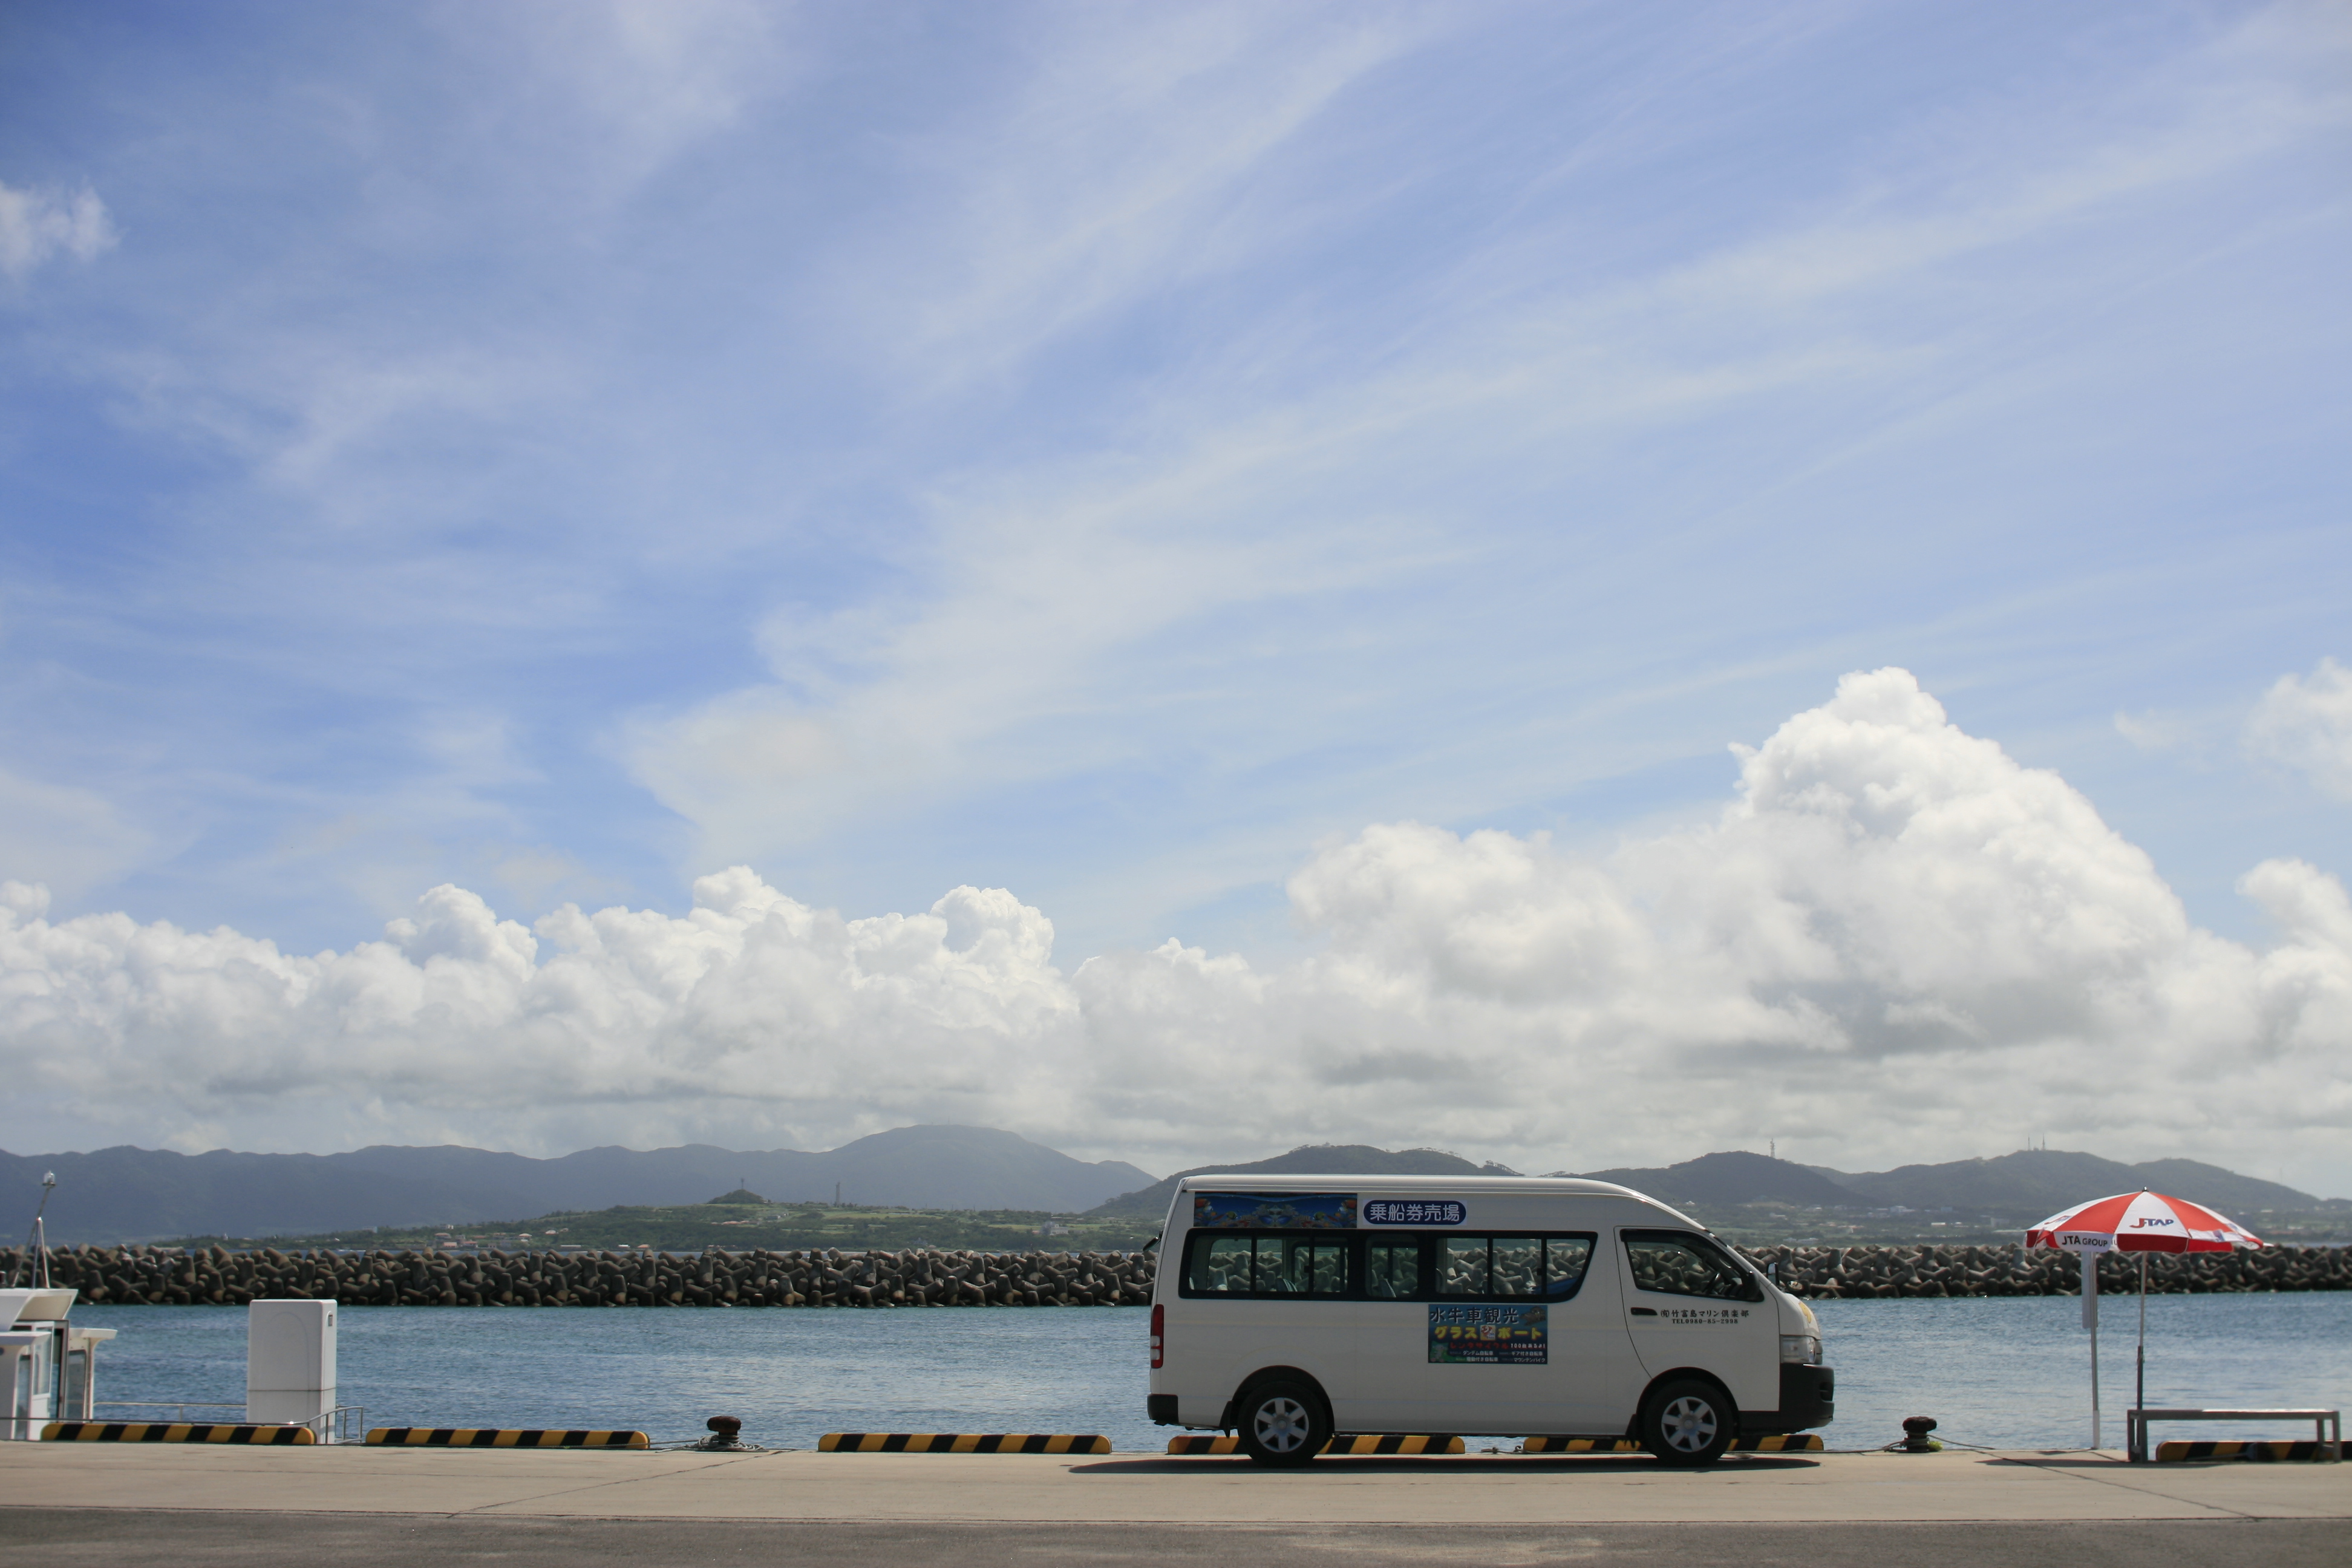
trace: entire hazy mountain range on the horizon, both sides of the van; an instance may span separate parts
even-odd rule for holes
[[[767,1201],[833,1201],[903,1208],[1018,1208],[1157,1222],[1176,1182],[1209,1173],[1329,1175],[1517,1175],[1442,1150],[1301,1145],[1256,1161],[1228,1161],[1152,1180],[1105,1159],[1087,1164],[985,1126],[901,1126],[837,1150],[581,1150],[532,1159],[468,1147],[381,1145],[348,1154],[172,1154],[113,1147],[89,1154],[0,1154],[0,1229],[16,1229],[56,1171],[47,1211],[52,1241],[146,1241],[172,1237],[285,1237],[402,1225],[529,1220],[612,1206],[701,1204],[748,1187]],[[1571,1175],[1557,1171],[1555,1175]],[[2136,1166],[2065,1150],[2020,1150],[1896,1171],[1835,1171],[1766,1154],[1719,1152],[1675,1166],[1585,1171],[1677,1208],[1776,1204],[1802,1211],[1952,1211],[1966,1220],[2030,1225],[2067,1204],[2157,1187],[2253,1222],[2265,1211],[2352,1206],[2223,1171],[2192,1159]],[[16,1211],[16,1220],[9,1211]],[[2260,1225],[2256,1225],[2260,1229]]]

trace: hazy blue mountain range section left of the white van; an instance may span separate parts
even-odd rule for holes
[[[776,1204],[1075,1213],[1152,1180],[985,1126],[901,1126],[837,1150],[581,1150],[560,1159],[379,1145],[348,1154],[0,1152],[0,1227],[16,1229],[56,1173],[47,1232],[64,1241],[299,1237],[372,1225],[466,1225],[543,1213],[701,1204],[750,1187]]]

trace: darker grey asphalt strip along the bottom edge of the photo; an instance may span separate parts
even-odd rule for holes
[[[42,1568],[647,1568],[668,1563],[1000,1563],[1237,1561],[1317,1568],[2343,1568],[2336,1519],[2124,1523],[1562,1523],[1562,1526],[1117,1526],[1098,1523],[769,1523],[739,1519],[360,1519],[353,1514],[9,1509],[12,1561]]]

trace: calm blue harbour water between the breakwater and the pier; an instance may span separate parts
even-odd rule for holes
[[[2105,1446],[2124,1441],[2136,1302],[2105,1298]],[[1999,1448],[2082,1448],[2091,1356],[2074,1298],[1816,1302],[1837,1366],[1832,1448],[1903,1436],[1905,1415]],[[242,1307],[78,1307],[115,1328],[99,1399],[245,1399]],[[743,1309],[346,1307],[346,1403],[379,1427],[637,1427],[807,1448],[821,1432],[1101,1432],[1157,1450],[1143,1418],[1141,1307]],[[2352,1403],[2352,1293],[2147,1302],[2147,1396],[2173,1406]],[[103,1410],[115,1420],[136,1413]],[[2176,1429],[2176,1436],[2310,1429]]]

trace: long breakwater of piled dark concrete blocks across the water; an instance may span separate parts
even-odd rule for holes
[[[2074,1295],[2072,1255],[2020,1246],[1759,1246],[1806,1298]],[[0,1276],[16,1265],[0,1251]],[[1143,1253],[327,1253],[66,1246],[49,1276],[87,1302],[221,1305],[254,1298],[365,1307],[1143,1307]],[[2138,1258],[2107,1253],[2100,1291],[2138,1288]],[[2352,1291],[2352,1248],[2270,1246],[2147,1260],[2159,1295]]]

